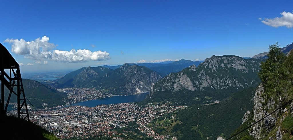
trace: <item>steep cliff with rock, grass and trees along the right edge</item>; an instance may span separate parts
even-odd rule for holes
[[[290,46],[287,46],[290,47]],[[293,55],[292,50],[287,51],[287,58],[279,65],[284,70],[286,76],[277,77],[278,82],[270,83],[270,81],[263,80],[252,98],[254,106],[250,113],[243,116],[243,124],[232,134],[233,139],[292,139],[293,135],[293,103],[292,103],[292,73],[293,73]],[[276,57],[272,57],[276,58]],[[281,57],[280,57],[281,58]],[[269,66],[274,65],[271,58],[265,63],[270,63]],[[275,60],[275,59],[273,59]],[[285,67],[284,67],[285,66]],[[267,70],[266,73],[260,72],[260,77],[271,76],[275,73],[281,75],[280,69],[271,69],[272,67],[262,67]],[[268,68],[270,68],[268,70]],[[278,85],[278,86],[275,86]],[[272,96],[272,91],[276,91],[277,96]],[[257,123],[256,123],[257,122]],[[252,125],[252,126],[251,126]],[[250,127],[251,126],[251,127]],[[248,129],[245,129],[248,128]],[[241,133],[240,133],[241,132]],[[240,133],[240,134],[238,134]],[[236,135],[237,134],[237,135]],[[242,138],[243,137],[243,138]]]

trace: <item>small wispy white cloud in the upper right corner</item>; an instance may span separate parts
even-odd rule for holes
[[[281,13],[281,15],[282,17],[265,18],[261,22],[264,23],[265,25],[269,25],[272,27],[285,26],[287,28],[292,28],[293,27],[293,13],[284,11]]]

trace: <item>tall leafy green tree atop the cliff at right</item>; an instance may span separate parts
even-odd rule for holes
[[[287,57],[281,51],[278,42],[270,45],[268,59],[260,65],[258,76],[264,85],[263,96],[266,99],[273,98],[275,101],[286,101],[289,88],[289,73],[287,68]]]

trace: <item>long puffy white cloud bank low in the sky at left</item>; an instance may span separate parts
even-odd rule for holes
[[[24,55],[25,58],[38,61],[61,61],[61,62],[86,62],[89,60],[102,61],[110,59],[110,54],[106,51],[75,50],[60,51],[54,50],[57,45],[48,42],[49,37],[43,36],[34,41],[26,42],[24,39],[6,39],[4,42],[11,44],[13,53]],[[44,62],[45,64],[45,62]]]

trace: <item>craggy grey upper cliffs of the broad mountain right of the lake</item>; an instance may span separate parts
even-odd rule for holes
[[[260,60],[238,56],[212,56],[195,65],[171,73],[155,84],[157,91],[203,91],[207,89],[244,89],[258,84]]]

